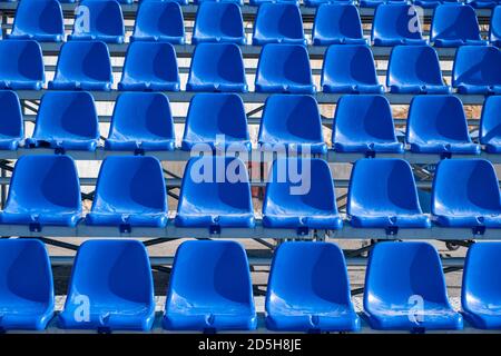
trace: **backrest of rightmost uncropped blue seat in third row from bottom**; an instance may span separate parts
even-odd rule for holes
[[[454,96],[414,97],[405,139],[407,144],[436,139],[471,142],[463,103]]]

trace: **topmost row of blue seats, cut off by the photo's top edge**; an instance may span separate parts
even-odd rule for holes
[[[17,0],[1,0],[0,2],[16,2]],[[19,0],[20,1],[20,0]],[[58,0],[60,3],[73,3],[77,2],[77,0]],[[117,0],[119,3],[134,3],[134,2],[150,2],[150,1],[157,1],[157,0],[139,0],[139,1],[134,1],[134,0]],[[161,0],[160,0],[161,1]],[[180,6],[186,6],[186,4],[202,4],[204,2],[210,2],[213,0],[194,0],[193,2],[190,2],[189,0],[168,0],[168,1],[173,1],[173,2],[177,2]],[[233,3],[237,3],[239,6],[243,6],[244,2],[245,4],[249,4],[249,6],[261,6],[263,3],[267,3],[267,2],[279,2],[279,3],[294,3],[294,4],[299,4],[299,0],[248,0],[248,1],[244,1],[244,0],[225,0],[225,2],[233,2]],[[305,7],[313,7],[316,8],[321,4],[324,3],[350,3],[350,4],[355,4],[358,3],[361,8],[376,8],[382,3],[400,3],[400,2],[412,2],[416,6],[420,6],[422,8],[425,9],[433,9],[435,7],[438,7],[439,4],[442,3],[458,3],[458,2],[462,2],[460,0],[413,0],[413,1],[409,1],[409,0],[360,0],[360,1],[355,1],[355,0],[304,0],[303,3]],[[494,8],[497,4],[500,3],[499,0],[466,0],[464,1],[465,3],[477,8],[477,9],[491,9]]]

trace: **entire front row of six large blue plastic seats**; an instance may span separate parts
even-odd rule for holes
[[[53,317],[52,273],[36,239],[0,240],[0,328],[45,329]],[[462,308],[449,303],[441,260],[426,243],[380,243],[370,253],[362,317],[374,329],[501,328],[501,244],[469,248]],[[22,263],[22,268],[20,264]],[[418,307],[416,307],[418,306]],[[266,327],[293,332],[356,332],[342,250],[328,243],[283,243],[266,295]],[[149,330],[153,277],[136,240],[88,240],[78,249],[58,325],[66,329]],[[171,330],[255,329],[249,266],[236,241],[186,241],[170,274],[163,326]]]

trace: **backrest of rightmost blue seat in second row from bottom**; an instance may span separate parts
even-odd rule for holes
[[[484,159],[445,159],[435,170],[433,215],[464,215],[500,210],[501,195],[491,162]]]

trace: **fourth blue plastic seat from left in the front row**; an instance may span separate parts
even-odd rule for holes
[[[301,261],[301,263],[298,263]],[[281,332],[356,332],[343,251],[334,244],[283,243],[266,294],[266,327]]]

